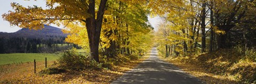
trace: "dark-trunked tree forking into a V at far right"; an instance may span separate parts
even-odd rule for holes
[[[215,7],[215,15],[217,17],[217,27],[223,31],[218,35],[218,48],[227,48],[227,34],[236,26],[237,23],[242,23],[241,19],[245,18],[244,15],[249,8],[249,4],[253,1],[226,1],[227,4],[217,3]],[[230,5],[231,4],[231,5]],[[219,7],[225,9],[220,9]],[[254,15],[255,16],[255,15]]]

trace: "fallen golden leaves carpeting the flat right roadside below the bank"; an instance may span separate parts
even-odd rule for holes
[[[191,75],[194,75],[195,77],[197,77],[198,79],[201,79],[202,81],[205,81],[206,83],[237,83],[238,82],[237,80],[232,78],[232,75],[215,74],[213,72],[210,72],[210,69],[209,69],[210,64],[203,65],[200,62],[197,62],[198,59],[195,58],[195,56],[168,58],[163,60],[173,63],[174,65],[178,66],[185,72]],[[205,66],[205,68],[208,68],[208,69],[205,69],[202,66]],[[211,69],[214,69],[214,68],[211,67]]]

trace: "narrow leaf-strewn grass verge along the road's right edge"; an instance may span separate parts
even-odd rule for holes
[[[229,75],[214,74],[207,71],[207,69],[202,68],[202,66],[187,63],[180,60],[179,58],[170,58],[164,60],[174,64],[175,66],[178,66],[183,71],[194,75],[195,77],[206,83],[238,83],[237,80],[235,80],[233,77],[230,77]]]

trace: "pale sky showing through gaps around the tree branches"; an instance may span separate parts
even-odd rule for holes
[[[20,5],[23,5],[25,7],[27,6],[33,6],[33,5],[37,5],[37,6],[41,6],[43,9],[46,9],[46,6],[45,6],[45,0],[37,0],[37,1],[34,1],[34,0],[31,0],[31,1],[23,1],[23,0],[5,0],[4,2],[1,2],[0,3],[0,32],[16,32],[18,31],[19,27],[17,26],[10,26],[10,23],[8,21],[4,21],[4,19],[2,18],[2,14],[4,13],[8,13],[8,11],[13,11],[12,7],[11,7],[11,3],[12,2],[15,2],[15,3],[19,3]],[[154,27],[155,30],[157,30],[157,25],[159,22],[161,22],[161,18],[159,18],[159,16],[156,16],[154,18],[150,18],[150,16],[148,16],[148,20],[149,20],[149,23],[151,24],[151,26]],[[56,25],[51,25],[53,27],[58,27]],[[58,28],[62,28],[63,26],[61,27],[58,27]]]

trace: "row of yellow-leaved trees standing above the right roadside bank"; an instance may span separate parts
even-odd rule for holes
[[[164,22],[157,31],[159,49],[166,57],[255,47],[256,1],[189,0],[154,7]]]

